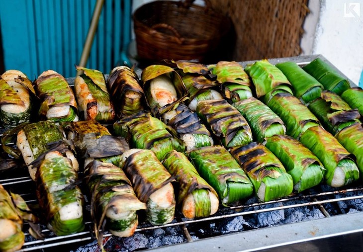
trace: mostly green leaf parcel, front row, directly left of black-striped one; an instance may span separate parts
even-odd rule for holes
[[[216,190],[224,206],[253,194],[250,179],[224,147],[201,147],[188,155],[200,176]]]

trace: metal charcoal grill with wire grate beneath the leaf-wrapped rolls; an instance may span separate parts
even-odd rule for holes
[[[305,65],[314,60],[321,58],[329,63],[321,55],[299,56],[291,58],[272,59],[270,62],[276,64],[284,61],[294,61],[298,65]],[[243,66],[251,62],[241,62]],[[339,71],[339,70],[338,70]],[[341,73],[342,74],[342,73]],[[343,74],[342,74],[343,75]],[[72,84],[74,79],[69,79]],[[351,84],[353,84],[351,82]],[[354,84],[353,84],[354,85]],[[12,192],[19,193],[27,203],[36,203],[35,184],[27,175],[27,168],[19,168],[6,178],[0,178],[0,183],[4,188]],[[347,213],[339,207],[340,204],[350,204],[355,202],[362,203],[362,206],[356,213]],[[255,218],[261,214],[270,214],[278,211],[291,211],[292,209],[319,209],[321,218],[298,221],[294,223],[283,223],[276,225],[271,223],[264,227],[259,225],[247,225],[247,230],[234,232],[226,231],[223,235],[220,233],[209,232],[208,235],[200,236],[198,229],[202,226],[213,227],[217,222],[230,220],[235,217]],[[26,242],[21,252],[39,251],[63,248],[77,248],[94,241],[92,233],[92,224],[90,217],[90,204],[86,197],[86,229],[84,232],[68,236],[55,236],[50,230],[43,227],[42,233],[45,235],[44,240],[33,239],[26,230],[27,224],[24,224]],[[278,223],[277,223],[278,224]],[[208,226],[209,225],[209,226]],[[275,226],[274,226],[275,225]],[[265,203],[249,200],[241,205],[231,207],[221,207],[213,216],[200,219],[185,219],[180,213],[176,213],[176,218],[172,223],[162,226],[152,226],[148,223],[140,223],[136,233],[143,233],[157,230],[160,228],[180,227],[184,236],[181,244],[163,246],[151,251],[166,252],[173,250],[181,251],[318,251],[324,248],[324,251],[342,251],[341,248],[348,248],[349,251],[362,251],[363,243],[363,185],[354,184],[349,187],[331,188],[325,185],[316,186],[306,192],[293,194],[278,200]],[[203,231],[204,232],[204,231]],[[111,237],[111,234],[105,233],[104,237]],[[195,237],[200,240],[194,241]],[[351,242],[351,240],[355,240]],[[352,246],[353,247],[349,247]],[[67,247],[68,246],[68,247]],[[322,247],[323,246],[323,247]],[[342,247],[343,246],[343,247]],[[67,248],[67,249],[64,249]],[[343,250],[344,251],[344,250]]]

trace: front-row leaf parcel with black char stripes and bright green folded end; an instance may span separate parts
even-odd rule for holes
[[[292,177],[262,144],[254,142],[243,147],[233,147],[230,152],[247,173],[260,201],[270,201],[292,192]]]

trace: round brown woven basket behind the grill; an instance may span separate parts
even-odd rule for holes
[[[205,3],[161,0],[139,7],[133,15],[138,57],[202,62],[231,26],[229,18]]]

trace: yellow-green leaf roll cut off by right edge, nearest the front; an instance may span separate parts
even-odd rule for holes
[[[342,129],[336,136],[338,142],[344,148],[356,156],[357,165],[363,178],[363,127],[360,123],[355,123]]]

